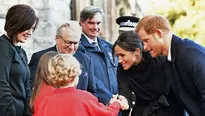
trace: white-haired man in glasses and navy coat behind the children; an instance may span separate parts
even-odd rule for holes
[[[56,51],[64,54],[71,54],[80,62],[82,74],[79,77],[77,88],[87,90],[96,96],[96,79],[93,74],[91,59],[82,52],[77,52],[82,28],[76,21],[70,21],[62,24],[56,32],[56,45],[34,53],[31,57],[29,68],[31,71],[32,85],[34,82],[37,65],[40,57],[48,51]],[[103,89],[102,89],[103,90]]]

